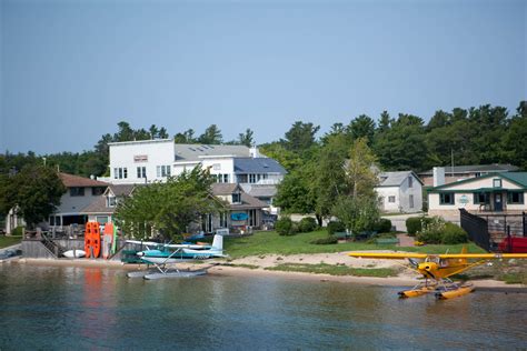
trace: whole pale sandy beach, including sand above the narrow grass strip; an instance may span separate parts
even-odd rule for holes
[[[145,270],[145,264],[125,264],[120,261],[106,260],[87,260],[87,259],[24,259],[18,258],[10,260],[11,264],[28,264],[28,265],[54,265],[54,267],[80,267],[80,268],[108,268],[117,270]],[[266,268],[272,268],[281,263],[304,263],[304,264],[345,264],[350,268],[394,268],[397,269],[397,277],[374,278],[374,277],[354,277],[354,275],[330,275],[330,274],[315,274],[301,272],[285,272],[285,271],[269,271]],[[310,281],[332,281],[341,283],[361,283],[372,285],[390,285],[390,287],[408,287],[419,282],[419,274],[405,267],[404,261],[400,260],[378,260],[378,259],[356,259],[347,255],[347,252],[337,253],[317,253],[317,254],[292,254],[292,255],[259,255],[246,257],[230,261],[206,261],[198,264],[181,263],[178,264],[180,269],[208,269],[209,274],[215,275],[239,275],[239,277],[281,277],[296,280]],[[3,264],[8,264],[4,262]],[[471,281],[477,288],[486,289],[510,289],[525,290],[527,285],[524,284],[506,284],[497,280],[475,280]]]

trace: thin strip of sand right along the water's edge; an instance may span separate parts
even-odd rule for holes
[[[252,259],[252,258],[249,258]],[[376,260],[378,261],[378,260]],[[47,267],[73,267],[73,268],[99,268],[99,269],[113,269],[123,271],[140,271],[147,270],[146,264],[137,263],[122,263],[120,261],[107,261],[107,260],[87,260],[87,259],[26,259],[26,258],[13,258],[9,261],[4,261],[3,264],[28,264],[28,265],[47,265]],[[259,278],[282,278],[282,279],[295,279],[312,282],[340,282],[340,283],[357,283],[365,285],[376,287],[412,287],[420,280],[417,274],[408,275],[400,274],[397,277],[377,278],[377,277],[356,277],[356,275],[330,275],[330,274],[316,274],[305,272],[286,272],[286,271],[269,271],[264,268],[250,269],[245,267],[226,264],[225,262],[213,262],[213,265],[208,267],[208,274],[217,277],[259,277]],[[1,264],[1,263],[0,263]],[[205,264],[182,263],[182,269],[203,269]],[[493,290],[493,291],[505,291],[505,292],[521,292],[527,293],[527,285],[524,284],[506,284],[498,280],[470,280],[476,289],[480,290]]]

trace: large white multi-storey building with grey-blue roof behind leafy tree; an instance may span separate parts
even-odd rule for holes
[[[113,184],[163,181],[201,164],[220,183],[278,184],[286,173],[275,160],[245,146],[178,144],[171,139],[112,142],[110,177]]]

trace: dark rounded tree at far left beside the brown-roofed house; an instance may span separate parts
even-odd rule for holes
[[[46,221],[66,192],[57,172],[42,166],[26,166],[12,177],[2,177],[0,192],[6,197],[0,211],[14,208],[29,228]]]

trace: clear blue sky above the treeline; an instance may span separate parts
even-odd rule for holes
[[[0,0],[0,153],[527,99],[527,1]]]

